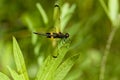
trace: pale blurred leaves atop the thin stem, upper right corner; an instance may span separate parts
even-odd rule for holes
[[[109,0],[108,8],[105,5],[103,0],[100,0],[102,7],[104,8],[108,18],[110,19],[113,27],[119,27],[119,1],[118,0]]]

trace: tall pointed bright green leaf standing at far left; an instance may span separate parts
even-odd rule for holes
[[[15,37],[13,37],[13,53],[17,71],[24,75],[25,80],[29,80],[24,58]]]

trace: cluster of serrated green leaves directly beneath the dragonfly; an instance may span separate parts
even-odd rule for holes
[[[51,55],[46,58],[45,62],[38,71],[36,80],[64,79],[64,76],[68,73],[75,60],[79,57],[78,55],[77,57],[73,55],[62,63],[62,60],[68,51],[69,44],[69,42],[63,44],[63,41],[58,44],[57,51],[55,51],[55,53],[58,54],[57,58],[54,58]],[[59,72],[59,70],[61,70],[61,72]]]

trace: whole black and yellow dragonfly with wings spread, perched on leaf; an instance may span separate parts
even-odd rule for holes
[[[54,14],[53,14],[53,22],[54,22],[54,28],[55,30],[53,32],[46,32],[46,33],[40,33],[40,32],[33,32],[36,35],[39,36],[45,36],[46,38],[52,39],[52,45],[54,48],[56,48],[56,43],[58,43],[62,39],[62,41],[66,41],[69,39],[69,33],[63,33],[61,25],[60,25],[60,0],[57,0],[54,5]],[[53,58],[57,58],[59,54],[53,53]]]

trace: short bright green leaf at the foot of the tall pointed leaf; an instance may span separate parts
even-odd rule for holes
[[[14,80],[25,80],[23,74],[19,75],[17,72],[15,72],[14,70],[12,70],[10,67],[8,67],[8,70],[10,71],[10,74],[12,75],[12,78]]]

